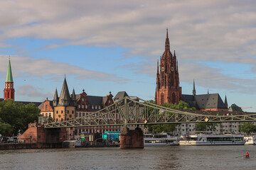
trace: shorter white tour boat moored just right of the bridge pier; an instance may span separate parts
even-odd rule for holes
[[[144,135],[144,146],[171,146],[178,145],[177,137],[171,137],[166,133],[164,134],[145,134]]]

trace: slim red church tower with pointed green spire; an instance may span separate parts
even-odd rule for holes
[[[12,99],[14,100],[14,79],[11,74],[11,61],[9,59],[8,70],[6,74],[6,82],[4,88],[4,100]]]

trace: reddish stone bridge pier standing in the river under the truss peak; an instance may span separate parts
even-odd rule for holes
[[[144,135],[141,128],[129,130],[124,127],[120,134],[120,149],[144,148]]]

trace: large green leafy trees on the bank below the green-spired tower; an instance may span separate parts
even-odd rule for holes
[[[38,120],[38,115],[40,115],[40,109],[34,103],[24,105],[13,100],[1,101],[0,133],[6,135],[12,131],[16,135],[18,130],[25,131],[28,128],[28,123]],[[9,127],[7,131],[6,127]]]

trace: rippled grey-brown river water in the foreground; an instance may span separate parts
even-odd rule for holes
[[[256,146],[0,150],[0,169],[256,169]]]

